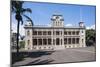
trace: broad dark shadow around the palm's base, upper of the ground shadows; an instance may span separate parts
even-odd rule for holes
[[[54,51],[35,51],[35,52],[19,52],[19,57],[17,57],[16,52],[12,52],[11,57],[11,64],[14,64],[15,62],[23,61],[25,58],[37,58],[44,55],[50,55]]]

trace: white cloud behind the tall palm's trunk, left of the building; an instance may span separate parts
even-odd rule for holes
[[[12,32],[17,32],[17,23],[12,22],[11,29]],[[19,33],[20,35],[25,35],[24,24],[20,25]]]

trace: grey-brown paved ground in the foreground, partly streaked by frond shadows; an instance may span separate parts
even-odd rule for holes
[[[39,57],[27,57],[23,61],[16,62],[13,65],[41,65],[53,63],[95,61],[95,48],[74,48],[48,52]]]

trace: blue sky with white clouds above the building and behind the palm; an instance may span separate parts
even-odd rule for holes
[[[87,29],[95,28],[96,7],[92,5],[24,2],[23,8],[32,10],[31,14],[25,14],[32,19],[34,25],[50,25],[52,15],[61,14],[64,18],[65,26],[78,26],[78,23],[82,21]],[[15,14],[12,14],[12,29],[16,32],[17,21],[14,16]],[[24,21],[26,20],[24,17],[23,19]],[[22,35],[24,35],[23,27],[24,25],[20,26]]]

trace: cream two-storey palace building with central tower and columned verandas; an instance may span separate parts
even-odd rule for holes
[[[62,15],[52,15],[51,26],[25,25],[25,50],[60,50],[85,47],[85,26],[66,27]]]

